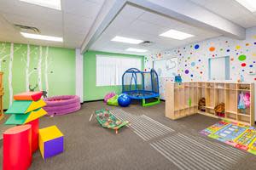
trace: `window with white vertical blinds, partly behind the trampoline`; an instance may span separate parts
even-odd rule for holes
[[[130,68],[142,69],[142,59],[96,55],[96,86],[122,85],[122,76]]]

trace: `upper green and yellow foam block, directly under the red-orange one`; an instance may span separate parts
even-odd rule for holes
[[[43,99],[39,99],[38,101],[15,100],[5,114],[26,114],[44,107],[45,105],[46,103]]]

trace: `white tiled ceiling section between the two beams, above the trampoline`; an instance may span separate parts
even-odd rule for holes
[[[170,29],[184,31],[195,35],[185,40],[175,40],[168,37],[160,37],[159,35]],[[110,41],[115,36],[131,37],[144,41],[154,42],[151,46],[143,47],[142,45],[134,45],[122,42]],[[125,51],[126,48],[143,48],[149,52],[160,50],[169,50],[190,42],[199,42],[211,37],[218,37],[220,34],[213,31],[206,31],[198,27],[183,24],[177,20],[167,18],[160,14],[148,12],[142,8],[137,8],[129,4],[119,13],[110,26],[102,33],[90,49],[135,54]],[[138,53],[136,53],[138,54]],[[147,53],[144,53],[147,54]]]

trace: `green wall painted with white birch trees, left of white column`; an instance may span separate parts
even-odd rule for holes
[[[13,44],[14,55],[12,59],[12,44],[0,42],[0,71],[3,71],[4,109],[9,107],[12,96],[11,88],[13,94],[18,94],[28,89],[27,84],[31,85],[31,88],[35,88],[35,91],[40,88],[47,91],[48,96],[75,94],[74,49],[30,45],[30,53],[27,53],[27,44],[15,43]],[[38,78],[40,74],[41,80]],[[9,78],[12,83],[9,82]]]

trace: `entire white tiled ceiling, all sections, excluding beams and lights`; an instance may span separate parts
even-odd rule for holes
[[[49,45],[65,48],[79,48],[84,41],[96,15],[105,0],[61,0],[62,10],[40,7],[23,3],[19,0],[0,0],[0,42],[20,42]],[[242,7],[235,0],[190,0],[207,10],[248,28],[256,26],[256,14]],[[200,13],[200,11],[196,11]],[[20,35],[13,24],[37,27],[42,35],[63,37],[64,42],[48,42],[26,39]],[[160,33],[176,29],[195,35],[186,40],[159,37]],[[134,37],[154,42],[151,46],[132,45],[111,42],[115,36]],[[126,4],[108,28],[90,47],[93,50],[126,53],[125,48],[145,48],[150,52],[169,50],[190,42],[199,42],[211,37],[221,36],[214,31],[207,31],[189,26],[160,14],[154,14],[142,8]]]

